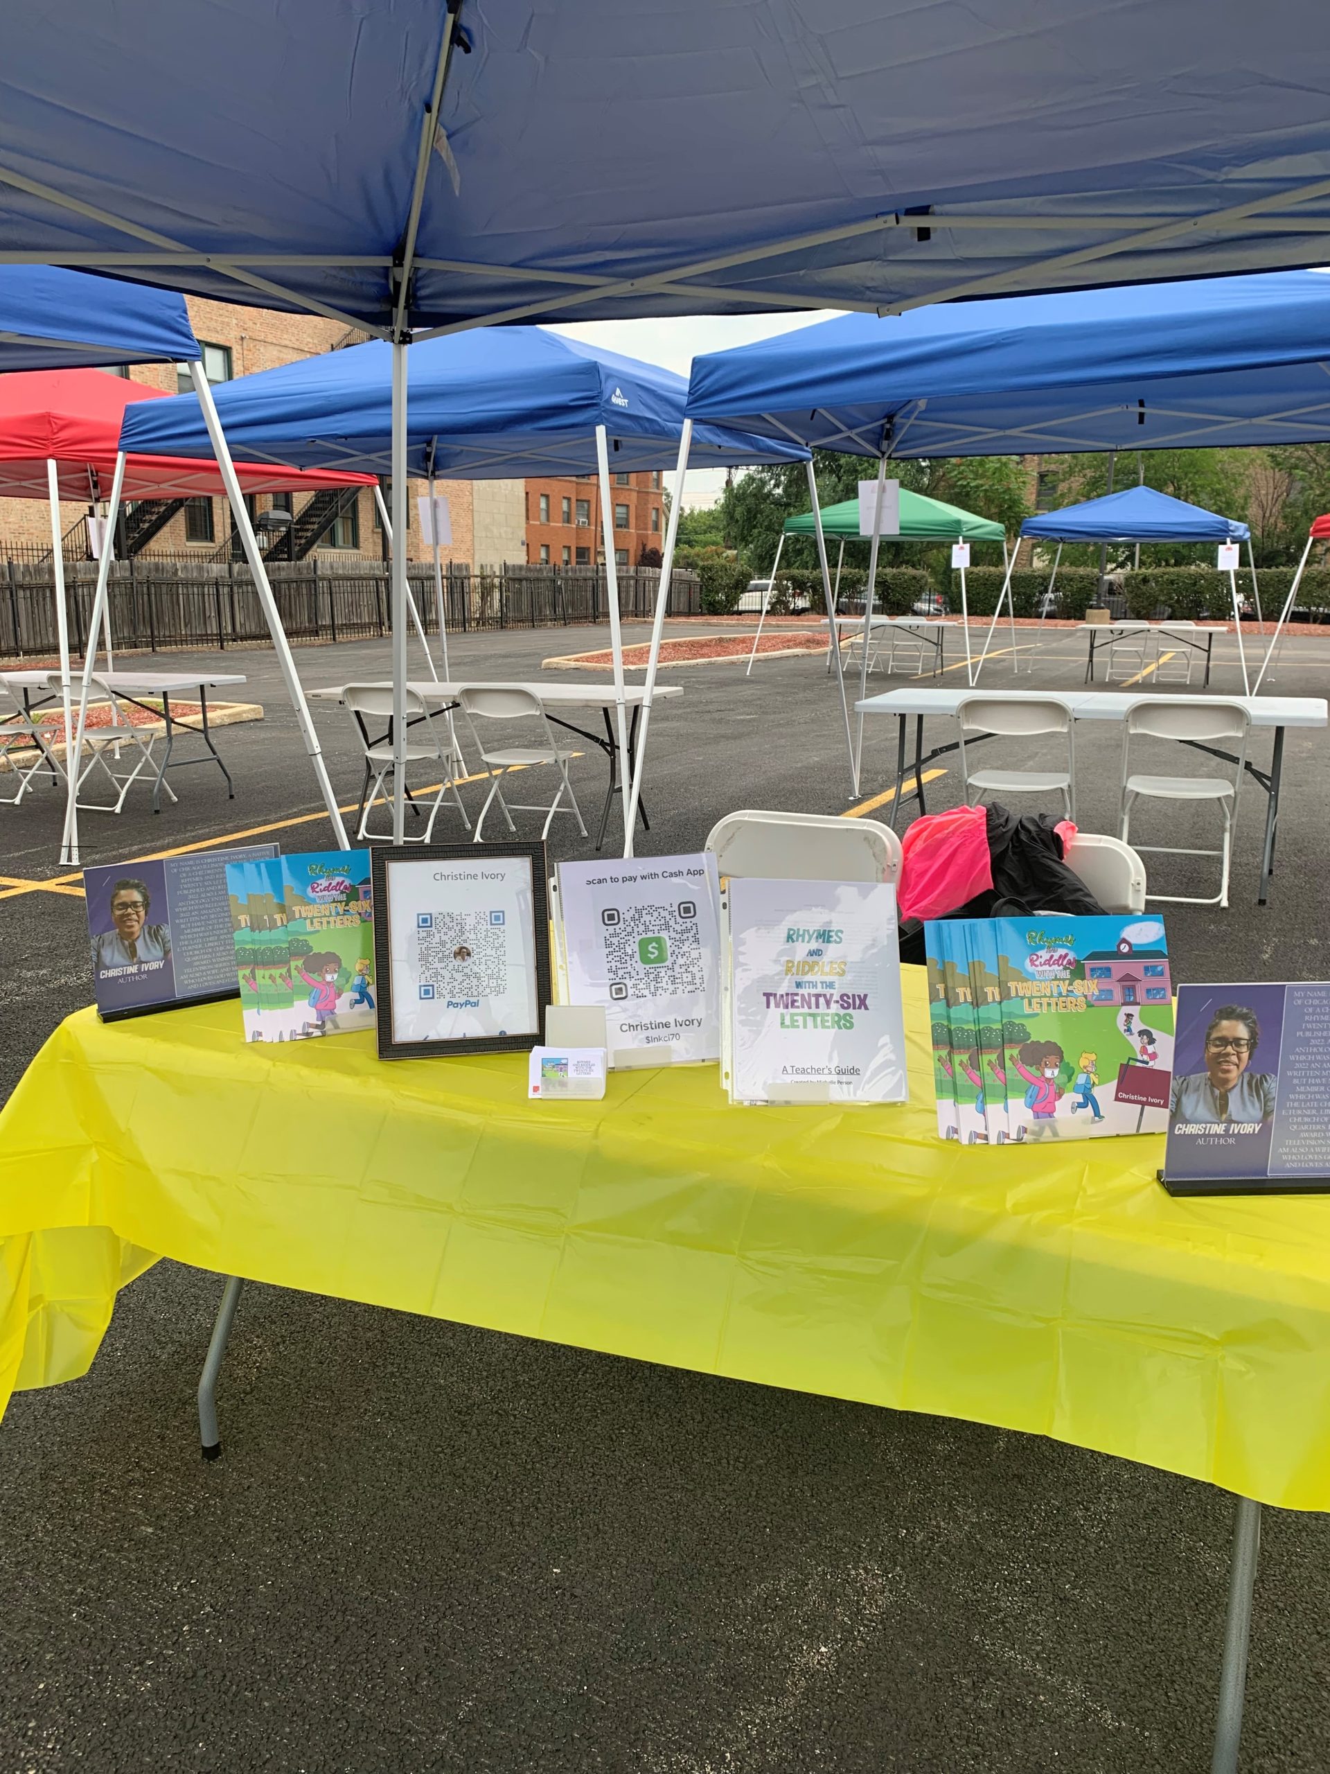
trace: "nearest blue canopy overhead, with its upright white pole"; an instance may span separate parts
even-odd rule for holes
[[[1204,30],[1179,0],[225,16],[138,0],[124,34],[51,0],[12,21],[0,255],[333,316],[392,341],[401,399],[422,328],[901,312],[1323,255],[1330,43],[1310,0],[1271,0],[1259,32],[1238,0]],[[395,561],[397,683],[404,612]]]

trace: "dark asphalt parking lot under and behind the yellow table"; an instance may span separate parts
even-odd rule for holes
[[[605,639],[463,635],[452,665],[528,678]],[[1029,672],[1000,655],[997,687],[1080,683],[1082,637],[1021,630],[1018,648]],[[1231,648],[1213,692],[1238,688]],[[387,671],[383,642],[296,658],[309,687]],[[197,770],[160,816],[145,795],[119,820],[85,814],[87,862],[259,828],[289,850],[332,841],[273,655],[223,669],[266,710],[218,734],[236,798]],[[849,805],[823,660],[669,681],[685,695],[653,720],[640,853],[697,850],[736,807]],[[1328,683],[1330,637],[1289,642],[1273,690]],[[349,805],[351,720],[326,704],[316,718]],[[1078,750],[1089,830],[1115,828],[1121,742],[1105,731]],[[1270,905],[1256,907],[1264,807],[1250,793],[1231,908],[1165,908],[1181,979],[1330,977],[1326,743],[1289,733]],[[894,722],[869,726],[862,800],[887,789],[894,745]],[[1254,734],[1254,756],[1268,749]],[[961,798],[954,757],[940,768],[931,809]],[[573,782],[598,812],[599,752]],[[465,793],[475,811],[481,786]],[[617,834],[614,820],[606,848]],[[440,814],[436,837],[456,836]],[[59,837],[51,791],[0,805],[0,875],[34,883],[0,885],[0,1093],[89,999]],[[1201,812],[1142,816],[1133,837],[1208,832]],[[557,821],[555,855],[587,848]],[[1160,859],[1154,885],[1165,867],[1179,892],[1208,891],[1215,871]],[[0,1774],[1209,1765],[1220,1492],[1037,1437],[262,1286],[227,1357],[225,1456],[204,1465],[193,1389],[218,1293],[216,1277],[160,1263],[121,1297],[87,1378],[16,1396],[0,1425]],[[1330,1524],[1268,1510],[1261,1559],[1243,1767],[1323,1774]]]

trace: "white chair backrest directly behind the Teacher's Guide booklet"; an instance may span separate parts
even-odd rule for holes
[[[720,875],[896,882],[901,873],[901,839],[890,827],[830,812],[731,812],[711,827],[706,848]]]

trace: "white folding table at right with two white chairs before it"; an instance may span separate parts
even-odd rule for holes
[[[896,715],[897,718],[897,749],[896,749],[896,795],[892,797],[892,827],[896,827],[896,816],[903,800],[917,800],[919,811],[926,812],[924,805],[924,770],[933,763],[935,757],[945,757],[947,752],[954,752],[959,747],[959,740],[951,740],[947,745],[935,745],[931,752],[924,752],[924,718],[927,715],[945,715],[956,718],[956,710],[966,697],[982,695],[986,701],[1020,701],[1025,703],[1034,692],[1029,690],[966,690],[966,688],[942,688],[920,685],[919,688],[904,690],[885,690],[881,695],[871,695],[855,708],[862,710],[864,715]],[[1060,703],[1073,717],[1073,720],[1126,720],[1128,708],[1138,703],[1225,703],[1238,704],[1247,710],[1247,718],[1254,727],[1273,729],[1275,740],[1270,754],[1270,768],[1259,770],[1250,757],[1247,759],[1247,775],[1257,782],[1266,793],[1266,841],[1261,855],[1261,892],[1257,896],[1257,905],[1266,903],[1266,889],[1270,885],[1270,876],[1273,873],[1275,862],[1275,827],[1279,823],[1279,782],[1284,768],[1284,733],[1287,727],[1325,727],[1330,722],[1326,713],[1325,699],[1319,695],[1151,695],[1149,692],[1142,695],[1131,690],[1041,690],[1039,697],[1053,703]],[[915,757],[913,763],[906,763],[906,722],[913,715],[915,718]],[[1193,745],[1197,750],[1209,752],[1215,757],[1224,757],[1229,763],[1238,759],[1232,752],[1217,750],[1213,745],[1201,745],[1193,740],[1183,742]],[[906,781],[913,777],[913,788],[906,795]]]

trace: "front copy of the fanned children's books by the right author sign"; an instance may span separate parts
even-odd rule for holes
[[[1011,1139],[1162,1134],[1172,983],[1156,917],[993,921]]]

